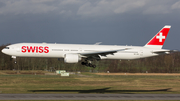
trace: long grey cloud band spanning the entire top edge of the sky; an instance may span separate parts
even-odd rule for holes
[[[166,14],[180,9],[180,1],[172,0],[3,0],[0,15],[46,14],[69,17],[104,17],[135,12]]]

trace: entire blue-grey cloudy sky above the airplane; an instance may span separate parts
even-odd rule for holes
[[[0,0],[0,45],[143,46],[165,25],[163,48],[180,50],[180,0]]]

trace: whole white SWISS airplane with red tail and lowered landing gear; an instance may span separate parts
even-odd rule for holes
[[[144,46],[88,45],[88,44],[49,44],[49,43],[17,43],[2,49],[4,54],[16,57],[62,58],[65,63],[78,63],[95,68],[93,60],[119,59],[132,60],[162,54],[170,54],[172,50],[162,49],[170,30],[165,25]],[[16,61],[15,61],[16,63]]]

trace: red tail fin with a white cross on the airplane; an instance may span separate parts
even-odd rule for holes
[[[144,47],[161,49],[171,26],[164,26]]]

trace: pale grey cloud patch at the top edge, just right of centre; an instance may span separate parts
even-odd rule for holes
[[[82,16],[120,14],[138,9],[144,5],[144,0],[99,0],[95,3],[88,1],[79,7],[77,14]]]

